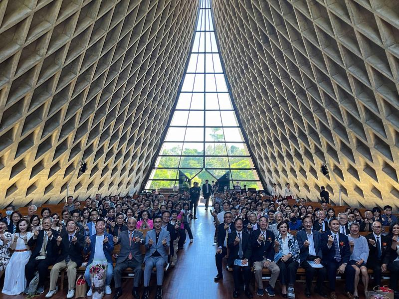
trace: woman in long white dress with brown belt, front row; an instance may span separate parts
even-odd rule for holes
[[[2,290],[5,295],[19,295],[25,290],[25,265],[31,255],[27,243],[32,236],[30,223],[26,219],[20,219],[16,225],[15,234],[12,234],[11,250],[14,250],[14,253],[5,268],[4,287]]]

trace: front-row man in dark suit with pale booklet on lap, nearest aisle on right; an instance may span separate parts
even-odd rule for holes
[[[240,274],[244,277],[245,296],[253,298],[249,290],[249,282],[251,279],[251,267],[249,266],[249,258],[251,257],[251,244],[249,235],[242,230],[242,219],[238,218],[234,221],[235,231],[228,234],[227,246],[230,253],[227,265],[233,268],[234,291],[233,298],[238,298],[240,287]]]

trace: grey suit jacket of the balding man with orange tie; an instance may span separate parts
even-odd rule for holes
[[[136,261],[143,263],[143,255],[140,252],[140,244],[144,244],[144,235],[141,231],[136,229],[134,231],[133,238],[140,238],[143,241],[141,243],[133,242],[133,240],[130,242],[128,230],[120,233],[118,242],[116,244],[121,244],[121,251],[116,259],[116,264],[123,263],[129,257],[130,252]]]

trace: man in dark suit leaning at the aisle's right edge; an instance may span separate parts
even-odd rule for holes
[[[215,254],[217,275],[214,278],[215,282],[223,279],[222,261],[223,257],[227,255],[227,236],[234,230],[234,225],[231,224],[232,221],[233,214],[231,212],[225,212],[224,222],[220,223],[217,227],[217,251]]]

